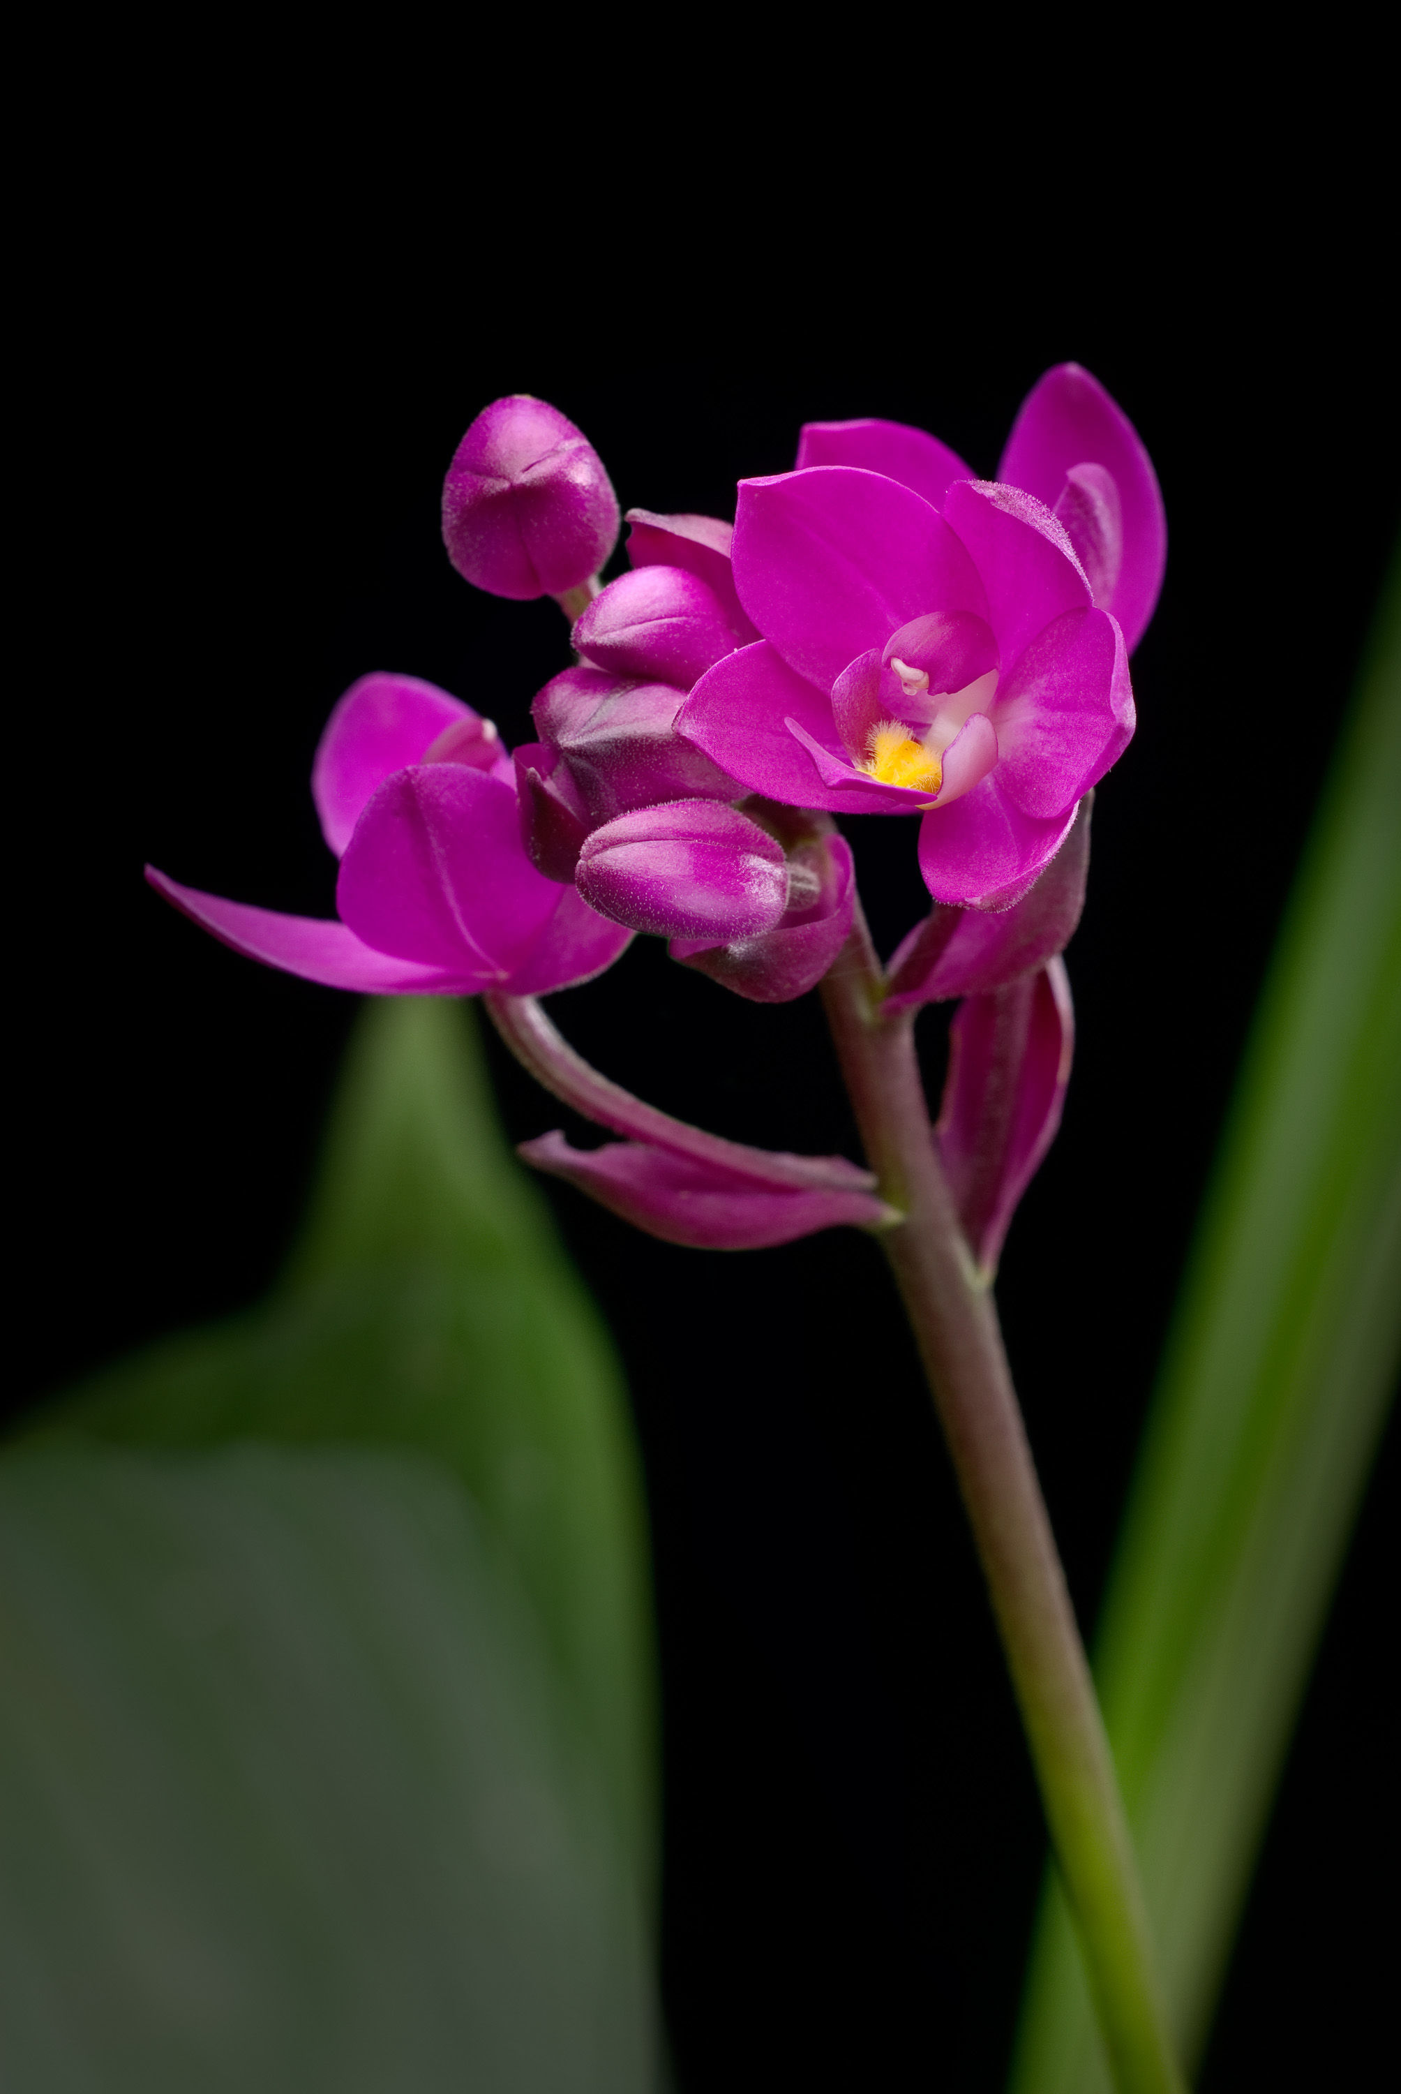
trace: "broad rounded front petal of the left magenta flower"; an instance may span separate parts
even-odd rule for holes
[[[559,903],[521,848],[515,794],[461,764],[385,779],[341,859],[337,909],[366,944],[505,976]]]

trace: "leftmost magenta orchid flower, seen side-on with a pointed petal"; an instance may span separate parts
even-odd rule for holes
[[[339,921],[251,909],[147,869],[237,953],[373,995],[544,995],[618,959],[630,932],[534,869],[513,764],[490,720],[415,676],[362,676],[312,764],[341,861]]]

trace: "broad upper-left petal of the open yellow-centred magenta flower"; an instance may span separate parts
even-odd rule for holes
[[[938,511],[894,480],[844,465],[739,482],[735,586],[764,639],[823,691],[924,611],[988,616]]]

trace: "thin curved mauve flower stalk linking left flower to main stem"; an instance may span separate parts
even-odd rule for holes
[[[482,1001],[503,1041],[536,1083],[542,1083],[565,1106],[574,1106],[586,1120],[611,1127],[616,1135],[649,1141],[674,1156],[695,1156],[699,1162],[735,1171],[760,1185],[817,1185],[836,1191],[871,1191],[875,1187],[873,1173],[848,1162],[846,1156],[790,1156],[781,1150],[752,1150],[743,1141],[725,1141],[720,1135],[708,1135],[685,1120],[672,1120],[670,1112],[645,1106],[620,1083],[591,1068],[551,1024],[534,997],[492,993]]]

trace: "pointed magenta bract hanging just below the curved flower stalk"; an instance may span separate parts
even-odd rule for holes
[[[693,1250],[762,1250],[842,1223],[873,1227],[892,1219],[869,1191],[787,1191],[637,1141],[572,1150],[553,1133],[521,1141],[519,1154],[664,1244]]]

